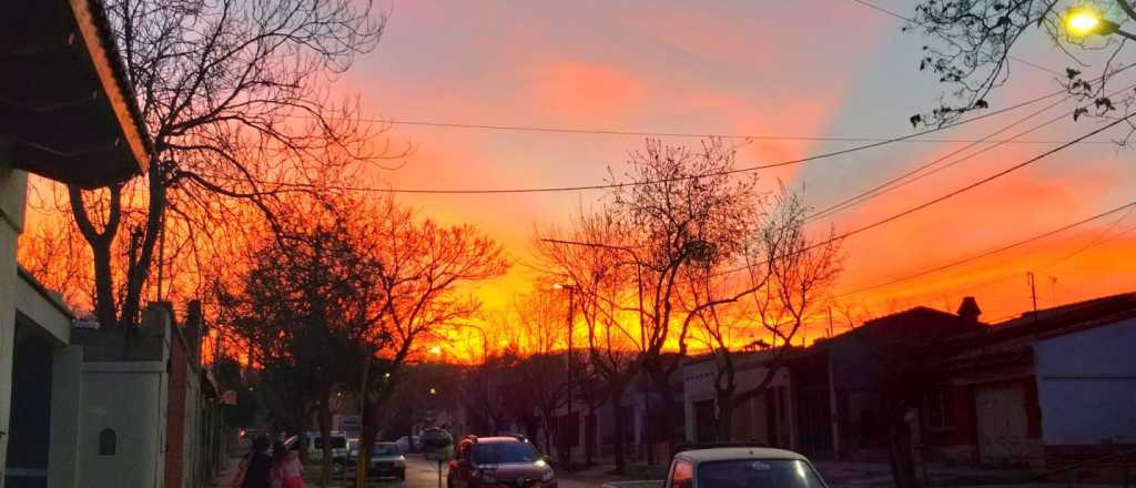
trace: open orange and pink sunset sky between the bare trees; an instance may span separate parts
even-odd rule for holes
[[[910,15],[907,1],[877,5]],[[337,83],[374,117],[446,124],[630,132],[777,136],[891,137],[910,134],[908,117],[935,106],[943,86],[920,73],[924,39],[902,22],[852,0],[788,2],[441,2],[385,3],[392,12],[376,52]],[[1063,71],[1070,61],[1041,37],[1016,53]],[[995,108],[1059,89],[1054,75],[1014,62]],[[1042,104],[926,138],[980,138]],[[1061,104],[1003,136],[1072,109]],[[953,166],[883,197],[817,222],[818,232],[857,228],[1034,157],[1088,132],[1094,121],[1062,120],[1024,140]],[[641,136],[508,132],[394,125],[392,142],[416,152],[376,178],[396,188],[515,188],[599,184],[620,175]],[[1112,133],[1120,136],[1121,133]],[[1004,138],[1004,137],[1000,137]],[[696,138],[665,137],[671,143]],[[1102,135],[1095,141],[1106,141]],[[742,165],[759,165],[857,145],[761,140]],[[961,148],[905,142],[761,174],[829,204]],[[837,294],[886,283],[1030,237],[1134,199],[1131,153],[1083,144],[846,244]],[[532,289],[533,229],[562,224],[602,192],[513,195],[402,195],[446,222],[474,224],[499,238],[518,266],[476,289],[488,309]],[[1136,216],[1117,213],[1010,252],[902,284],[843,296],[872,312],[916,304],[958,306],[972,294],[993,320],[1029,306],[1027,270],[1039,306],[1133,289]],[[1055,283],[1053,280],[1055,278]]]

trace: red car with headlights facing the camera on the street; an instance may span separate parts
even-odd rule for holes
[[[450,461],[449,488],[556,488],[546,456],[524,437],[469,436]]]

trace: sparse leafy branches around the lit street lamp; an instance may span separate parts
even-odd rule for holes
[[[1117,37],[1083,36],[1066,30],[1064,16],[1084,7],[1075,0],[921,0],[904,30],[927,37],[919,69],[929,71],[950,87],[939,107],[911,117],[912,125],[943,125],[963,115],[988,109],[991,94],[1011,75],[1014,49],[1033,42],[1038,31],[1067,56],[1071,67],[1056,76],[1069,95],[1081,102],[1074,112],[1083,116],[1127,118],[1134,102],[1131,90],[1110,87],[1109,82],[1128,66],[1116,64],[1126,42]],[[1129,0],[1101,2],[1102,15],[1121,26],[1136,20]],[[1111,7],[1111,8],[1109,8]],[[1119,115],[1118,115],[1119,113]],[[1126,142],[1136,126],[1129,123]]]

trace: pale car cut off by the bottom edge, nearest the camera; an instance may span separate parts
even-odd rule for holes
[[[680,447],[667,473],[665,488],[827,488],[804,456],[757,446]]]

